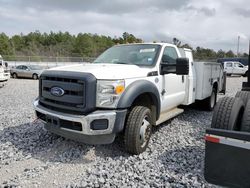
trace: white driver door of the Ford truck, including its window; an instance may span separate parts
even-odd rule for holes
[[[178,54],[174,47],[165,47],[163,56],[167,59],[165,63],[176,64]],[[184,102],[185,86],[186,76],[174,73],[163,75],[162,111],[168,111]]]

